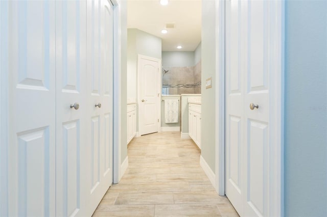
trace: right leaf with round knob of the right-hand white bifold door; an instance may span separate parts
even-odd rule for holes
[[[268,2],[242,3],[244,47],[248,53],[244,62],[244,186],[246,216],[269,215],[269,36]],[[274,88],[274,87],[271,87]],[[258,108],[250,109],[250,103]]]

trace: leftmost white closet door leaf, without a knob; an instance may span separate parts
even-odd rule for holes
[[[51,1],[2,5],[8,6],[1,13],[8,13],[10,26],[9,32],[2,32],[8,34],[8,49],[2,55],[8,56],[9,64],[5,215],[55,215],[55,5]]]

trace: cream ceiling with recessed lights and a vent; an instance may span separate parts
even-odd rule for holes
[[[166,28],[167,23],[174,28]],[[201,42],[201,0],[170,0],[166,6],[159,0],[128,0],[127,28],[161,38],[162,51],[194,51]]]

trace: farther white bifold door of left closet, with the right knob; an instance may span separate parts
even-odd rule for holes
[[[113,181],[112,8],[107,0],[87,1],[87,215]]]

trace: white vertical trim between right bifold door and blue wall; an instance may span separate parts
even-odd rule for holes
[[[268,3],[272,40],[269,87],[269,104],[274,105],[269,112],[269,213],[270,216],[284,216],[284,39],[285,39],[285,2]],[[280,88],[279,88],[280,87]]]

